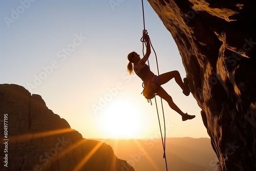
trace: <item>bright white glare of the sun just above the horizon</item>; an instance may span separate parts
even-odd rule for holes
[[[127,101],[113,101],[105,107],[100,126],[106,138],[139,138],[143,122],[138,105]]]

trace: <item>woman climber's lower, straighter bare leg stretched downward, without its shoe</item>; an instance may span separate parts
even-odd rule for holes
[[[178,112],[181,116],[186,115],[178,108],[178,106],[174,103],[172,97],[170,97],[170,95],[168,95],[168,93],[166,93],[166,91],[162,87],[159,87],[156,93],[158,96],[160,96],[161,98],[163,98],[165,101],[168,102],[170,108]]]

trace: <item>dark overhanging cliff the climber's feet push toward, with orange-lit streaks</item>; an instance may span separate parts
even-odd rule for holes
[[[148,0],[174,37],[221,170],[256,170],[256,3]]]

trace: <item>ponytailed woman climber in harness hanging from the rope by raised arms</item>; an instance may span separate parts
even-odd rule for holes
[[[145,63],[151,54],[150,38],[146,32],[143,33],[143,39],[146,43],[146,54],[141,59],[140,55],[138,55],[136,52],[131,52],[127,56],[128,60],[129,60],[129,63],[127,65],[127,71],[130,74],[133,74],[133,71],[134,71],[136,73],[136,75],[138,75],[142,79],[142,81],[144,82],[144,86],[145,86],[145,88],[143,90],[144,96],[145,96],[144,91],[147,91],[147,90],[145,90],[147,88],[149,92],[150,91],[153,92],[153,96],[155,96],[155,94],[157,94],[158,96],[160,96],[161,98],[166,100],[168,102],[170,108],[172,108],[173,110],[175,110],[177,113],[179,113],[182,116],[183,121],[185,121],[187,119],[195,118],[196,117],[195,115],[188,115],[187,113],[183,113],[178,108],[178,106],[173,102],[172,97],[170,97],[170,95],[168,95],[167,92],[161,87],[162,84],[165,84],[170,79],[175,78],[175,81],[178,83],[180,88],[183,90],[183,94],[188,96],[190,91],[188,88],[188,83],[187,83],[186,78],[183,79],[184,80],[184,83],[183,83],[181,80],[181,77],[180,77],[180,73],[178,71],[171,71],[171,72],[167,72],[167,73],[161,74],[159,76],[156,76],[150,70],[150,67],[148,67],[148,65],[146,65],[146,63]],[[149,90],[149,89],[151,89],[151,90]],[[151,98],[153,98],[153,97],[149,97],[149,99],[151,99]]]

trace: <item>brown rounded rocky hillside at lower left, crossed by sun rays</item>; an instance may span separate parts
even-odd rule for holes
[[[0,84],[0,116],[0,170],[134,170],[111,146],[82,138],[23,87]]]

